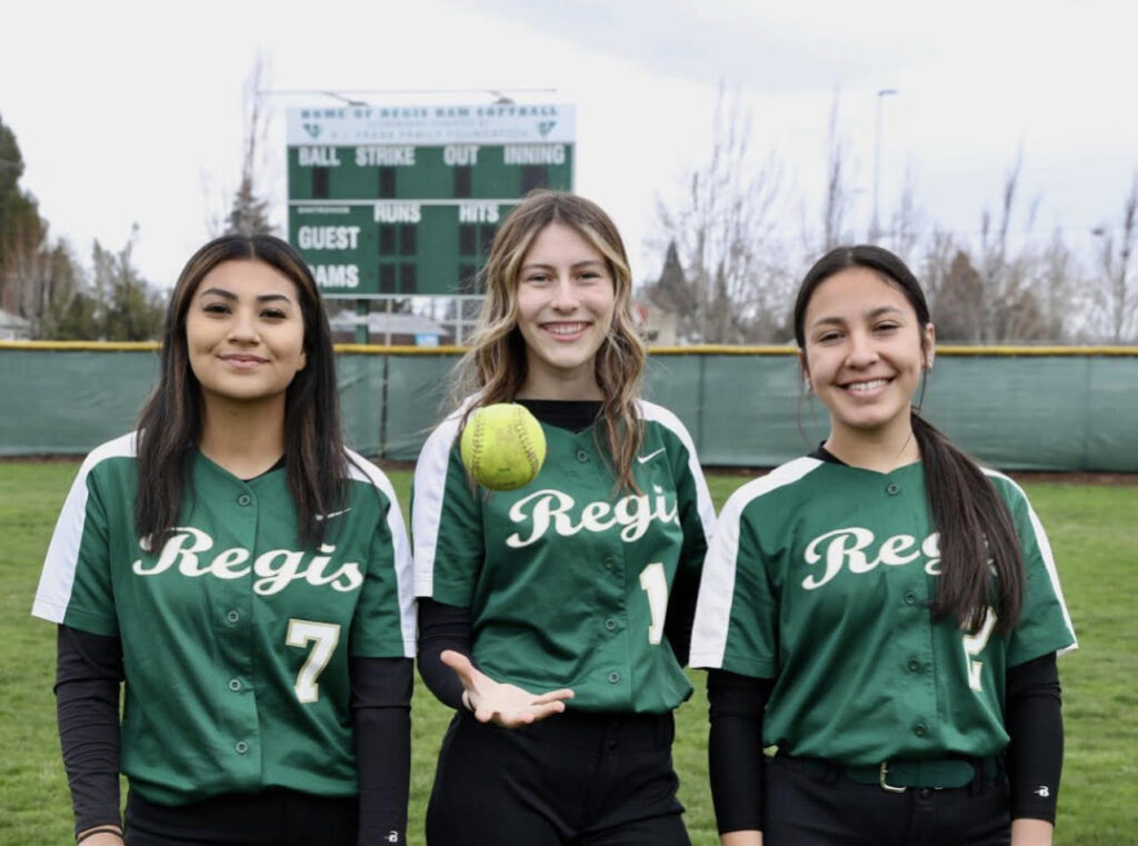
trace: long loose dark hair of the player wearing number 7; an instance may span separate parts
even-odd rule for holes
[[[335,511],[347,491],[348,467],[340,436],[336,362],[328,314],[304,260],[267,235],[223,236],[201,247],[182,269],[166,310],[158,384],[139,417],[139,487],[134,520],[139,537],[158,549],[178,523],[189,462],[201,438],[201,389],[190,369],[185,314],[205,276],[222,262],[258,261],[292,280],[304,315],[306,363],[284,395],[284,468],[305,547],[324,536],[321,516]]]

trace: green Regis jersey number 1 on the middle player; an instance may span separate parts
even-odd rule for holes
[[[517,491],[468,479],[457,413],[415,467],[417,594],[470,608],[487,675],[535,692],[572,688],[575,709],[665,713],[691,695],[665,614],[677,570],[698,578],[715,510],[683,424],[649,402],[637,409],[640,493],[616,491],[594,427],[542,424],[545,463]]]

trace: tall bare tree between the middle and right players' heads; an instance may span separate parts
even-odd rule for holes
[[[786,273],[774,237],[782,173],[774,156],[752,170],[750,126],[737,92],[720,85],[710,158],[684,179],[676,207],[657,204],[657,240],[675,245],[683,270],[661,284],[673,302],[692,305],[679,326],[687,342],[764,340],[782,322]],[[649,295],[663,305],[661,284]],[[677,285],[690,294],[676,291]]]

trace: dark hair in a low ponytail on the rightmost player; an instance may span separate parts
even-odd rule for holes
[[[810,268],[799,287],[794,337],[800,351],[806,350],[806,307],[814,291],[830,277],[852,268],[872,270],[899,288],[916,312],[918,330],[931,322],[921,284],[905,262],[872,245],[838,247]],[[922,346],[924,337],[922,331]],[[932,351],[924,352],[929,360]],[[921,391],[923,396],[924,384]],[[940,536],[941,575],[933,617],[955,618],[962,629],[974,633],[991,607],[996,630],[1006,634],[1015,627],[1023,606],[1023,555],[1012,516],[979,465],[922,418],[920,406],[910,414],[924,466],[929,511]]]

